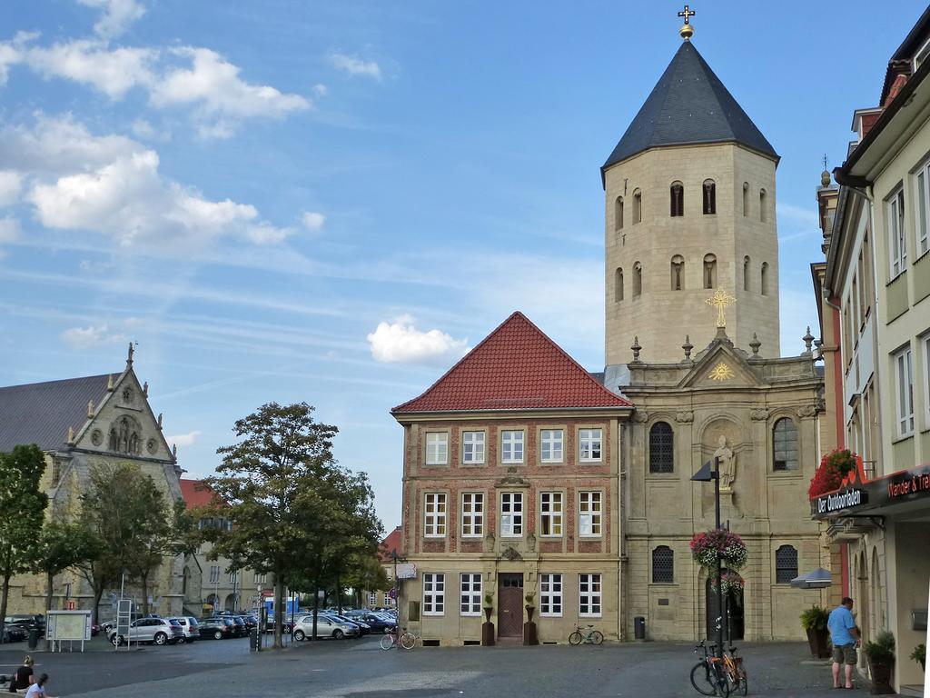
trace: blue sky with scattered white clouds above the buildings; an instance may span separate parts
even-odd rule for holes
[[[694,7],[695,45],[782,156],[782,351],[800,353],[821,157],[842,162],[921,8]],[[513,310],[602,367],[599,167],[678,9],[5,0],[0,384],[117,371],[139,342],[189,477],[237,418],[305,400],[390,530],[389,409]]]

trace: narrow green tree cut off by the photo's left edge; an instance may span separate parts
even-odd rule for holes
[[[39,489],[45,469],[45,455],[37,446],[0,453],[0,634],[7,617],[9,580],[35,564],[35,536],[48,505],[46,493]]]

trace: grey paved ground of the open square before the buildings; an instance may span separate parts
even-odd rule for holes
[[[378,639],[302,642],[260,653],[249,652],[246,639],[119,652],[98,642],[95,649],[103,651],[39,653],[36,671],[51,677],[51,695],[72,698],[698,695],[688,680],[695,656],[687,644],[382,651]],[[750,695],[835,698],[830,667],[807,663],[805,643],[746,644],[740,652],[750,672]],[[22,653],[0,651],[0,673],[18,664]]]

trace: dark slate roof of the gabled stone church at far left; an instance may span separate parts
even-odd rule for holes
[[[114,376],[118,376],[116,373]],[[107,394],[108,375],[0,388],[0,452],[20,444],[58,449],[87,421],[87,402]]]

